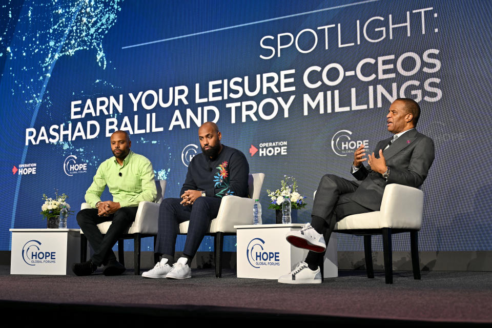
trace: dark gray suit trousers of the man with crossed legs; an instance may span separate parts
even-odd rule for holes
[[[323,235],[326,243],[330,240],[335,224],[345,216],[373,211],[352,200],[352,195],[358,187],[358,181],[350,181],[333,174],[326,174],[321,178],[313,203],[311,225]],[[310,251],[306,263],[317,264],[323,256],[324,253]]]

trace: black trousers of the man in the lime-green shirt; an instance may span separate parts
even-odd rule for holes
[[[97,209],[85,209],[77,213],[77,222],[94,250],[92,262],[97,266],[116,261],[113,246],[135,221],[138,207],[124,207],[109,216],[98,216]],[[113,221],[105,235],[97,224]]]

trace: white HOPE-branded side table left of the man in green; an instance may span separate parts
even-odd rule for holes
[[[10,274],[66,275],[80,261],[79,229],[10,229]]]

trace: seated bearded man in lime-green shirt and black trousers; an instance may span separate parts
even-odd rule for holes
[[[77,276],[87,276],[105,265],[106,276],[119,275],[125,267],[116,260],[113,245],[128,230],[140,201],[154,201],[157,189],[152,163],[146,157],[130,150],[132,142],[125,131],[111,135],[111,150],[114,157],[105,160],[97,169],[92,185],[86,192],[86,202],[92,209],[81,210],[77,222],[89,240],[94,254],[89,261],[74,263],[72,271]],[[113,200],[102,201],[100,196],[108,186]],[[97,224],[113,221],[103,235]]]

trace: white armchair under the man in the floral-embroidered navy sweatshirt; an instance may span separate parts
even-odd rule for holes
[[[222,276],[222,248],[224,235],[235,235],[234,226],[253,223],[254,199],[260,198],[261,187],[265,179],[264,173],[250,174],[248,178],[248,194],[251,198],[224,196],[220,203],[217,218],[210,221],[208,235],[214,236],[215,276]],[[179,234],[187,234],[190,221],[179,224]]]

